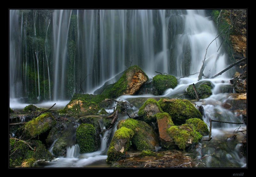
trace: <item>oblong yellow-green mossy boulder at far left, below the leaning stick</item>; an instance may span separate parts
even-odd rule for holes
[[[37,118],[25,124],[26,131],[31,137],[36,137],[42,133],[50,131],[50,129],[56,124],[56,120],[51,113],[44,113]]]

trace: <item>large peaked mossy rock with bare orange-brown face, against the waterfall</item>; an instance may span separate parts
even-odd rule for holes
[[[121,95],[134,95],[147,80],[148,76],[140,67],[130,66],[117,82],[106,86],[101,95],[109,99]]]

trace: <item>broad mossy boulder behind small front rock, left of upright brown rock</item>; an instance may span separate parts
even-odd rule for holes
[[[126,119],[118,125],[118,128],[122,127],[129,128],[134,132],[131,143],[137,150],[155,150],[158,147],[158,136],[147,123],[140,120]]]

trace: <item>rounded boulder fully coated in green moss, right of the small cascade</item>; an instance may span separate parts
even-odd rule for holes
[[[76,130],[76,142],[80,153],[97,151],[100,147],[100,138],[92,124],[82,123]]]

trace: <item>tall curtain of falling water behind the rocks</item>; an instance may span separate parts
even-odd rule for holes
[[[217,31],[204,10],[10,10],[10,34],[10,97],[69,100],[132,65],[149,78],[197,73]],[[219,46],[205,75],[226,67]]]

